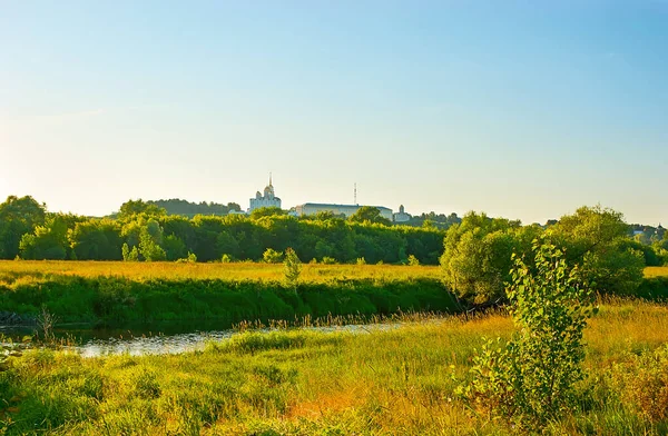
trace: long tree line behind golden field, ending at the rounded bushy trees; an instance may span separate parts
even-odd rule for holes
[[[250,216],[193,218],[167,215],[156,204],[130,200],[114,218],[49,212],[32,197],[0,205],[0,258],[70,260],[263,260],[267,249],[292,247],[304,261],[436,265],[444,231],[391,226],[375,208],[343,219],[332,214],[296,218],[258,209]]]

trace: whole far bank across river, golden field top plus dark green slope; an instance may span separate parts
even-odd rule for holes
[[[458,310],[429,267],[310,265],[296,293],[282,278],[267,264],[0,262],[0,307],[110,326]]]

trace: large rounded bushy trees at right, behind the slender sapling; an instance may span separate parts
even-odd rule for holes
[[[651,245],[642,244],[629,235],[622,214],[600,206],[581,207],[546,227],[470,212],[445,235],[444,281],[468,301],[502,299],[511,283],[512,255],[531,265],[531,248],[539,238],[562,248],[568,265],[578,266],[582,279],[600,293],[633,294],[646,266],[668,265],[668,232]]]

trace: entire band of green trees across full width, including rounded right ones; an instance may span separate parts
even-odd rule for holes
[[[599,287],[618,293],[633,288],[645,266],[668,264],[668,232],[644,244],[620,212],[601,207],[582,207],[546,226],[477,212],[459,222],[449,218],[448,230],[429,216],[422,227],[392,226],[372,207],[347,219],[330,212],[297,218],[277,208],[189,218],[141,200],[125,202],[115,218],[90,218],[10,196],[0,205],[0,258],[261,261],[289,247],[303,261],[440,262],[445,284],[477,301],[502,295],[511,255],[528,255],[542,235],[566,248],[567,261],[581,265]]]

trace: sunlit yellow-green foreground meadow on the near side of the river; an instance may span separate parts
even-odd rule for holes
[[[453,395],[481,336],[503,315],[448,318],[371,334],[245,333],[205,351],[82,359],[31,351],[0,373],[8,435],[510,434]],[[668,432],[668,308],[602,306],[586,333],[579,410],[550,434]]]

